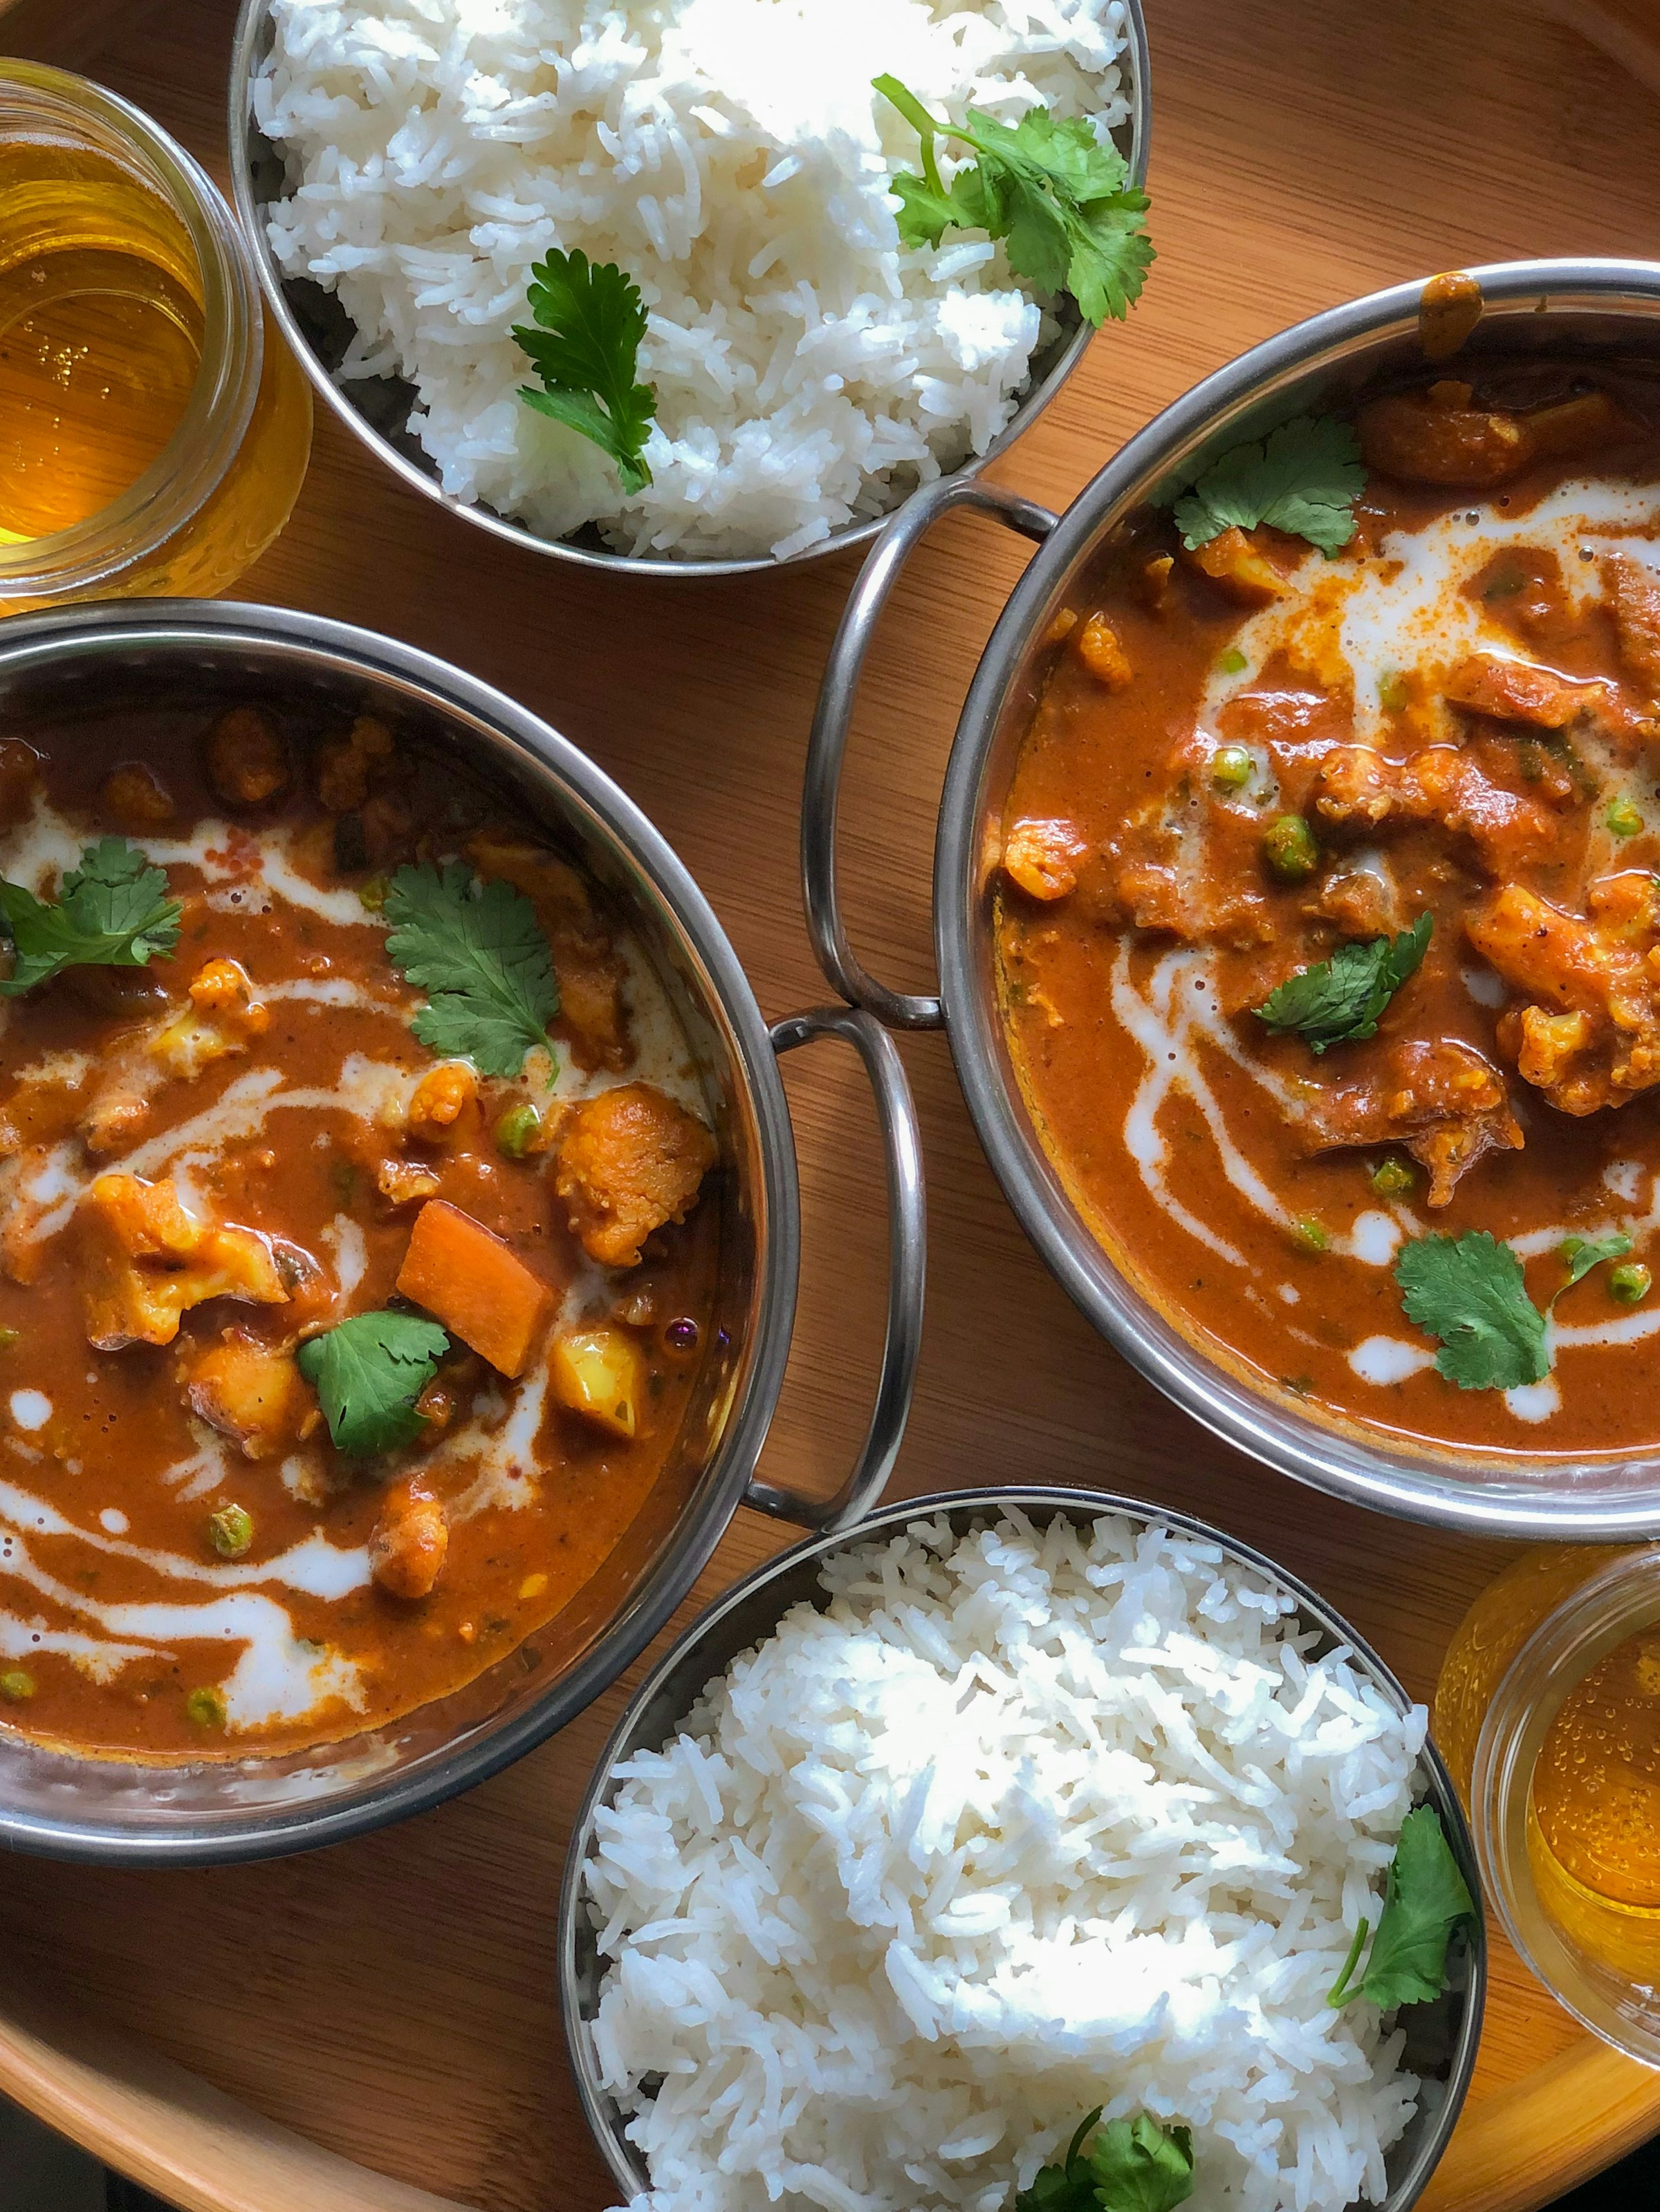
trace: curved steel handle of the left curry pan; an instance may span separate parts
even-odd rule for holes
[[[775,1520],[834,1535],[852,1528],[876,1504],[899,1458],[916,1354],[923,1340],[923,1281],[927,1272],[927,1206],[923,1199],[923,1133],[905,1082],[899,1046],[857,1006],[812,1006],[772,1024],[772,1051],[792,1053],[815,1037],[841,1037],[859,1053],[876,1095],[881,1150],[888,1166],[888,1334],[881,1347],[876,1405],[852,1473],[834,1498],[801,1498],[772,1482],[750,1482],[744,1504]]]

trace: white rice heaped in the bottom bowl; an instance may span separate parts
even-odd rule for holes
[[[598,1820],[635,2212],[1003,2212],[1102,2101],[1191,2126],[1202,2212],[1381,2199],[1434,2090],[1326,1991],[1423,1708],[1124,1520],[916,1522],[823,1579]]]

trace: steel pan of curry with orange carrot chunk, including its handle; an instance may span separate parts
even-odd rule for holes
[[[892,1042],[761,1022],[575,748],[339,624],[0,641],[0,1836],[241,1858],[578,1712],[746,1500],[854,1520],[923,1274]],[[753,1480],[788,1354],[777,1053],[852,1044],[892,1197],[854,1473]]]

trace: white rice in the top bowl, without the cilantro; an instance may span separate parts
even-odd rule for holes
[[[416,385],[445,491],[549,538],[598,520],[633,553],[786,557],[983,453],[1045,334],[1003,248],[899,248],[888,179],[919,144],[870,80],[892,71],[936,115],[1042,104],[1104,135],[1127,115],[1122,13],[274,0],[255,115],[290,197],[270,239],[356,325],[341,378]],[[653,484],[631,500],[516,398],[533,378],[511,327],[553,246],[629,270],[649,310]]]

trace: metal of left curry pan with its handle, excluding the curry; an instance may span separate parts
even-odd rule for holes
[[[540,825],[629,916],[684,1024],[722,1148],[722,1259],[710,1352],[664,1473],[593,1579],[547,1628],[452,1697],[341,1743],[277,1759],[146,1765],[51,1750],[0,1728],[0,1847],[60,1858],[210,1863],[339,1843],[469,1790],[562,1728],[691,1590],[739,1504],[808,1528],[854,1522],[881,1493],[910,1407],[923,1310],[916,1117],[892,1037],[850,1006],[768,1029],[713,909],[664,838],[569,739],[409,646],[339,622],[199,599],[64,608],[0,626],[11,730],[250,695],[301,714],[378,714],[412,748],[458,759]],[[870,1075],[890,1197],[888,1336],[870,1431],[830,1500],[755,1480],[795,1321],[801,1245],[777,1055],[815,1037]]]

